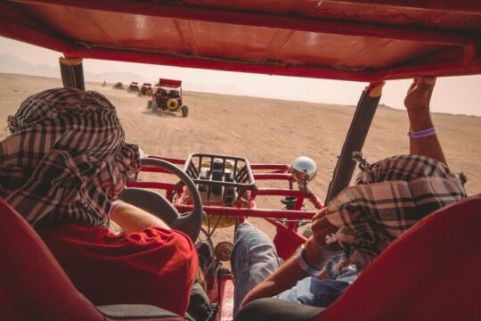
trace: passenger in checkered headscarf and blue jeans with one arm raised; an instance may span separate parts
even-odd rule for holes
[[[362,172],[356,185],[314,216],[313,236],[283,265],[264,233],[247,221],[238,227],[231,256],[234,316],[249,301],[265,297],[328,307],[396,237],[466,197],[446,165],[429,114],[435,83],[436,78],[415,79],[404,100],[410,155],[370,165],[357,154]],[[338,245],[344,254],[337,254]]]

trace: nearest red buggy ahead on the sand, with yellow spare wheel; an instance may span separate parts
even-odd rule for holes
[[[154,89],[147,108],[151,108],[152,112],[182,112],[182,117],[187,117],[189,107],[183,104],[182,80],[159,78],[159,84],[154,86]]]

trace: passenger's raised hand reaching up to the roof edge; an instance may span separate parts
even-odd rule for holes
[[[429,113],[429,101],[436,84],[436,77],[415,78],[404,99],[408,113]]]

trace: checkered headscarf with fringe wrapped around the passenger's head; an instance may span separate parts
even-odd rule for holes
[[[348,261],[361,270],[421,218],[466,197],[461,180],[428,157],[361,161],[360,168],[357,185],[330,201],[326,217],[339,227],[327,243],[341,243]]]

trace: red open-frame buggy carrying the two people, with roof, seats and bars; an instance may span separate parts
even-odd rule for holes
[[[421,75],[480,74],[480,35],[481,3],[470,0],[0,3],[0,36],[63,53],[64,86],[86,89],[83,58],[366,82],[322,198],[325,203],[350,182],[355,169],[352,152],[363,149],[383,82]],[[174,99],[175,111],[182,111],[180,85],[178,80],[160,79],[150,101],[152,110],[174,111],[175,103],[167,103]],[[123,87],[121,83],[118,86]],[[157,95],[162,86],[167,96],[173,90],[177,94],[173,92],[166,100],[161,90]],[[281,256],[289,256],[305,241],[296,231],[299,221],[312,218],[314,209],[322,207],[314,193],[289,185],[296,180],[284,164],[249,165],[245,159],[224,155],[196,154],[188,160],[161,156],[182,166],[198,186],[210,220],[206,223],[208,234],[216,222],[222,224],[218,218],[265,218],[277,228],[277,250]],[[143,170],[163,169],[145,165]],[[287,182],[289,188],[263,188],[260,183],[266,179]],[[183,185],[139,180],[130,185],[165,190],[166,199],[178,212],[192,210]],[[260,209],[259,195],[284,197],[285,209]],[[307,200],[313,210],[302,210]],[[481,319],[481,285],[476,282],[481,270],[480,209],[477,195],[422,219],[390,245],[339,300],[314,318]],[[4,218],[0,225],[1,317],[115,319],[77,292],[35,231],[2,200],[0,212]],[[230,250],[229,244],[221,245],[219,261]],[[428,286],[420,286],[420,280]],[[208,276],[208,295],[221,305],[216,320],[232,318],[232,289],[228,271],[218,269]],[[153,312],[137,308],[121,307],[130,313],[123,319],[183,319],[168,311],[162,314],[156,307],[151,307]],[[292,310],[303,308],[297,305]]]

